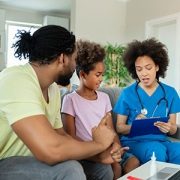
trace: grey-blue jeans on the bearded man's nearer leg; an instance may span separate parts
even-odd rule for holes
[[[34,157],[9,157],[0,160],[0,180],[85,180],[77,161],[47,165]]]

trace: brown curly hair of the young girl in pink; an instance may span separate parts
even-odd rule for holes
[[[76,48],[76,73],[78,77],[80,71],[88,74],[94,69],[96,63],[103,62],[105,58],[105,49],[95,42],[79,40],[76,43]]]

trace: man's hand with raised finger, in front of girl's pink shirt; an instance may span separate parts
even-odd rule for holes
[[[92,138],[95,142],[102,144],[103,149],[107,149],[114,140],[115,133],[114,131],[106,126],[106,121],[109,118],[110,114],[107,113],[99,123],[98,127],[92,128]]]

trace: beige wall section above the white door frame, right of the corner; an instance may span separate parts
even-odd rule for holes
[[[126,42],[145,38],[145,22],[180,12],[179,0],[131,0],[127,3]]]

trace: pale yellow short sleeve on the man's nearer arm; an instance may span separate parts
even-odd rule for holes
[[[15,80],[12,76],[13,73],[7,74],[0,83],[0,108],[9,124],[24,117],[44,114],[37,81],[23,73],[14,73]]]

